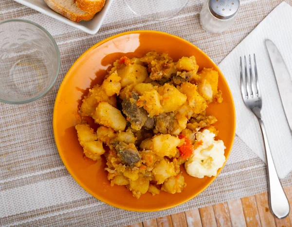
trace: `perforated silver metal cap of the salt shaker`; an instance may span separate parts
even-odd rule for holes
[[[209,0],[209,9],[213,16],[225,20],[236,15],[239,0]]]

